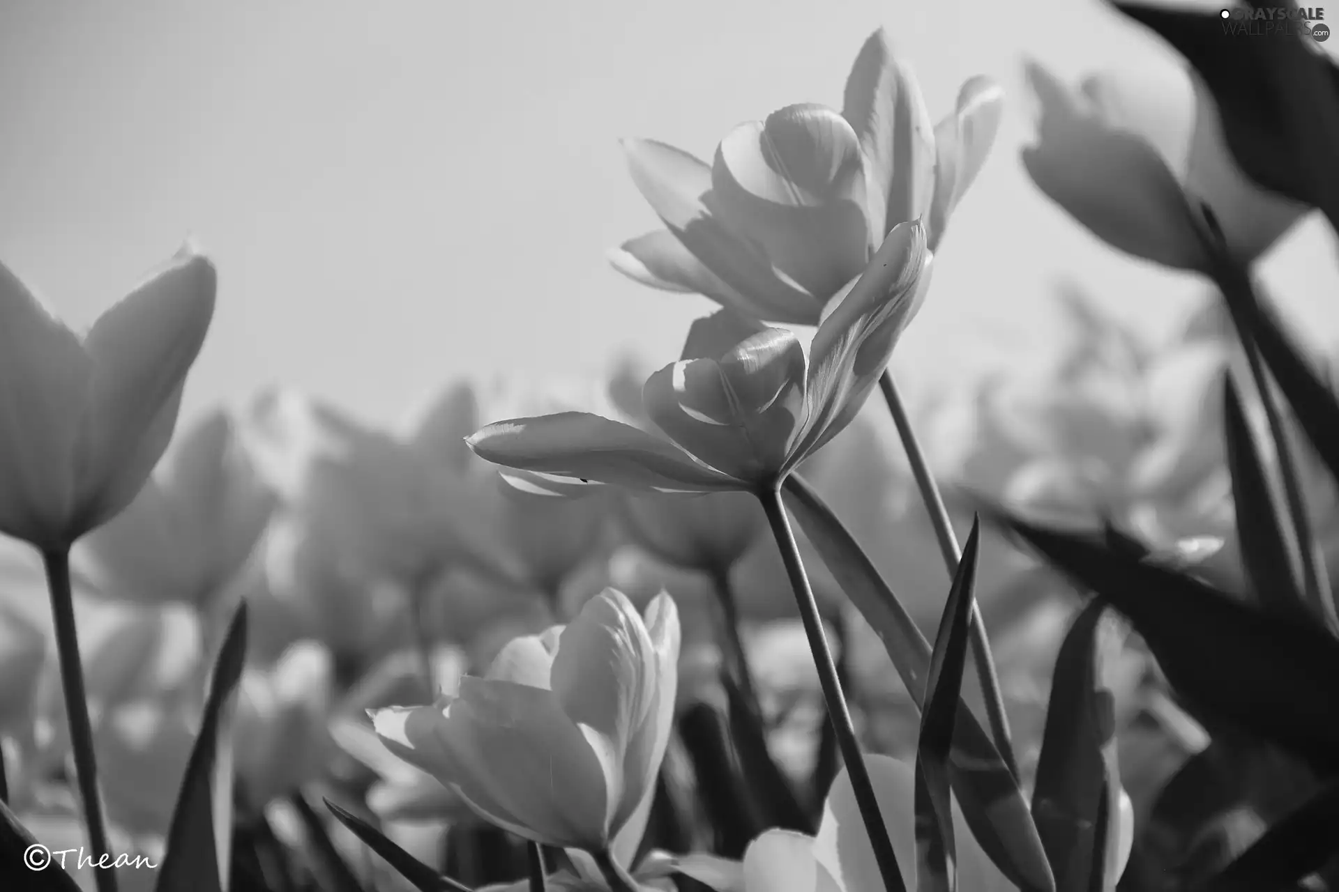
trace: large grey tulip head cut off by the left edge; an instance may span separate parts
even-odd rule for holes
[[[139,492],[214,314],[190,245],[80,337],[0,263],[0,534],[64,552]]]

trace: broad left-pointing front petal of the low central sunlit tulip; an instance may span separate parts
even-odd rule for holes
[[[608,844],[605,769],[550,691],[465,677],[445,710],[382,709],[372,723],[485,820],[550,845]]]

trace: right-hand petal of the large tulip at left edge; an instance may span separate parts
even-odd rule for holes
[[[78,452],[80,516],[71,532],[125,508],[162,457],[216,288],[214,265],[183,249],[94,322],[84,341],[92,391]]]

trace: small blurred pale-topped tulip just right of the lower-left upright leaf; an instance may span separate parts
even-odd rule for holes
[[[269,670],[246,669],[233,719],[237,777],[254,808],[324,772],[333,663],[315,642],[291,647]]]

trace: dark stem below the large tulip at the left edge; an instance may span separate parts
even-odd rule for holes
[[[70,551],[43,551],[47,587],[51,590],[51,618],[55,623],[56,653],[60,659],[60,682],[66,694],[70,719],[70,744],[75,753],[75,776],[88,828],[88,848],[95,857],[115,857],[107,844],[107,824],[98,794],[98,760],[92,746],[92,722],[88,721],[88,694],[83,686],[79,659],[79,635],[75,626],[75,602],[70,587]],[[98,892],[116,892],[115,871],[94,871]]]

